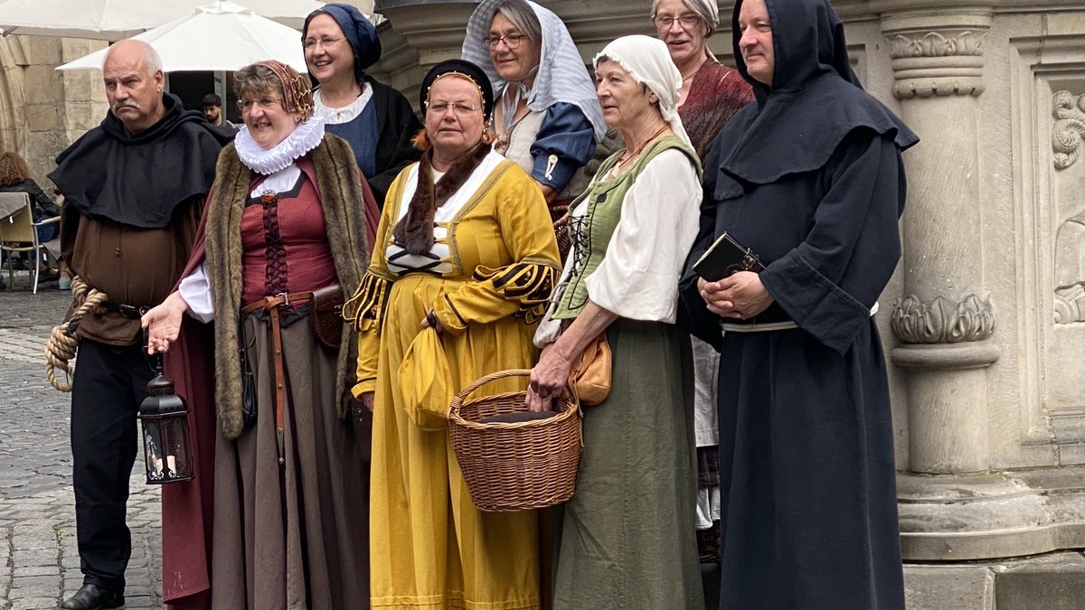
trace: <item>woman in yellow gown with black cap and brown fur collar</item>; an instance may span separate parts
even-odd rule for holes
[[[372,608],[539,606],[535,512],[471,504],[445,420],[472,381],[531,368],[560,272],[541,191],[490,151],[489,87],[462,60],[422,81],[425,153],[392,183],[346,307],[359,331],[354,394],[373,410]]]

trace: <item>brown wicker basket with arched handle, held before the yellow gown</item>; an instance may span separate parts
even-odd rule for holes
[[[573,496],[580,461],[580,411],[572,387],[554,404],[558,415],[515,423],[480,423],[495,415],[526,411],[524,392],[506,392],[468,401],[486,383],[528,377],[513,369],[487,374],[452,399],[448,430],[460,470],[480,510],[545,508]]]

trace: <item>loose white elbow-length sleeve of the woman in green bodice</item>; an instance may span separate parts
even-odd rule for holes
[[[591,302],[623,318],[673,323],[701,194],[686,153],[668,149],[649,162],[626,191],[607,255],[585,280]]]

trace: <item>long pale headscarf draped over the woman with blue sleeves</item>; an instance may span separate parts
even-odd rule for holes
[[[489,48],[482,39],[489,36],[489,23],[494,20],[494,5],[497,2],[498,0],[483,0],[471,13],[461,51],[464,60],[481,67],[489,77],[495,100],[505,94],[509,84],[498,76],[494,62],[489,59]],[[546,112],[558,102],[573,104],[591,122],[596,139],[602,139],[607,132],[603,110],[596,98],[595,81],[584,67],[584,60],[573,37],[569,35],[561,17],[552,11],[531,0],[527,4],[535,11],[535,16],[542,26],[539,68],[527,93],[527,107],[535,112]]]

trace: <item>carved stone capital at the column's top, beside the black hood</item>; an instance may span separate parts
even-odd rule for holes
[[[966,8],[883,16],[893,94],[911,99],[982,93],[983,41],[991,15],[990,9]]]

